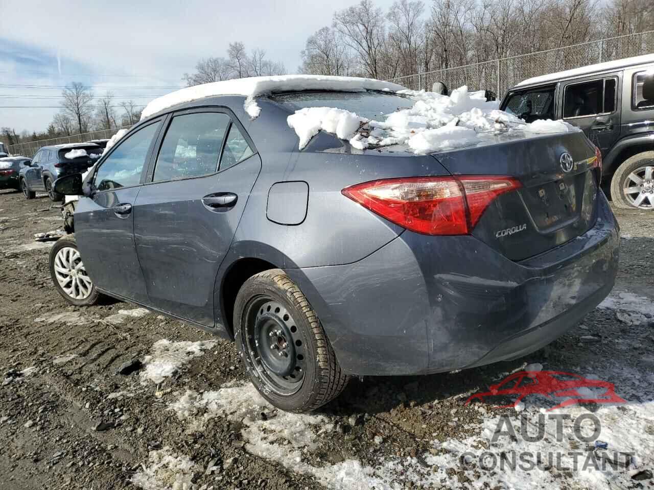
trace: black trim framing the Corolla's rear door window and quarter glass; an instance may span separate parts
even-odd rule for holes
[[[221,112],[223,114],[227,114],[230,118],[230,124],[228,124],[228,127],[225,132],[225,137],[223,138],[222,141],[222,147],[220,148],[220,157],[218,158],[218,166],[216,167],[216,171],[211,173],[211,174],[202,174],[202,175],[194,175],[194,176],[188,176],[188,177],[183,177],[183,178],[174,178],[174,179],[169,179],[169,180],[154,180],[154,167],[156,165],[156,159],[159,157],[159,153],[161,152],[162,145],[163,145],[163,139],[165,139],[165,135],[168,132],[169,125],[173,118],[175,116],[184,116],[186,114],[196,114],[198,112]],[[224,171],[228,171],[230,169],[233,169],[237,165],[243,163],[244,161],[249,160],[251,157],[254,155],[258,154],[258,151],[256,150],[256,146],[254,146],[254,142],[250,138],[250,135],[245,131],[245,127],[243,126],[243,123],[239,120],[239,118],[236,117],[236,115],[233,113],[232,109],[229,108],[228,106],[222,106],[222,105],[206,105],[206,106],[196,106],[196,107],[190,107],[190,108],[185,108],[181,110],[176,110],[173,112],[168,112],[165,114],[166,120],[164,122],[165,125],[165,131],[161,131],[161,137],[159,141],[157,142],[157,151],[156,153],[152,154],[152,161],[150,162],[151,169],[152,171],[150,172],[150,167],[148,167],[148,174],[146,175],[146,182],[143,182],[143,186],[151,186],[153,184],[165,184],[167,182],[182,182],[183,180],[190,180],[190,179],[195,179],[195,178],[205,178],[205,177],[211,177],[217,174],[220,174]],[[241,135],[245,138],[247,141],[247,144],[250,146],[250,150],[252,150],[252,155],[249,155],[249,157],[242,159],[241,161],[235,163],[232,165],[232,167],[228,167],[226,169],[220,169],[220,163],[222,161],[222,152],[224,151],[225,144],[227,141],[227,137],[229,135],[230,129],[232,129],[232,125],[236,124],[236,127],[241,131]]]

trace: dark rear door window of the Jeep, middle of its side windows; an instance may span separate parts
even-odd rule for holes
[[[610,114],[615,110],[616,78],[600,78],[566,86],[563,118]]]

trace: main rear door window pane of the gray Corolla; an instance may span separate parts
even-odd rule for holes
[[[230,116],[194,112],[175,116],[163,138],[154,182],[197,177],[218,171],[218,159]]]

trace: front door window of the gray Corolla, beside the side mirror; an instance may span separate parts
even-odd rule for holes
[[[116,146],[97,169],[95,186],[98,191],[139,184],[150,143],[158,127],[158,123],[150,124],[129,135]]]

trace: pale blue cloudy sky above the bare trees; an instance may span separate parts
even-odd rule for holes
[[[58,106],[70,82],[145,105],[181,87],[201,57],[226,56],[233,41],[264,48],[295,73],[307,37],[356,0],[0,3],[0,127],[20,132],[45,129],[58,109],[37,106]],[[387,9],[392,0],[375,3]]]

